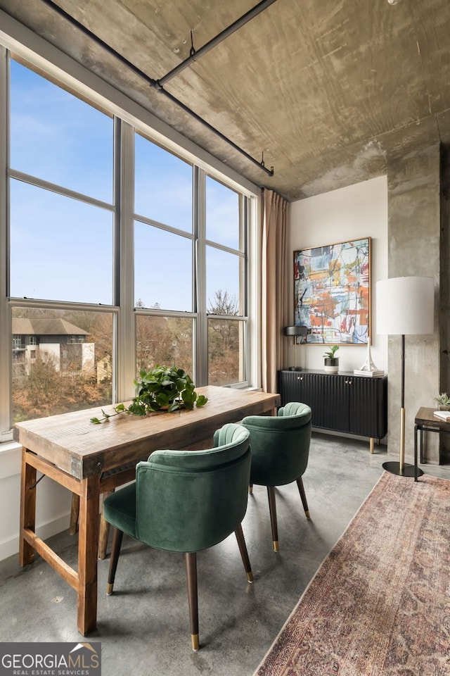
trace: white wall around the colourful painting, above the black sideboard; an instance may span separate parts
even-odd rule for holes
[[[387,373],[387,337],[375,333],[375,283],[387,277],[387,178],[380,176],[364,183],[308,197],[290,205],[288,247],[292,251],[314,246],[371,237],[371,352],[375,365]],[[293,270],[289,293],[293,299]],[[294,301],[292,302],[293,320]],[[294,363],[290,341],[288,364]],[[323,370],[321,345],[299,345],[297,365]],[[361,368],[366,361],[365,346],[341,346],[337,356],[342,371]]]

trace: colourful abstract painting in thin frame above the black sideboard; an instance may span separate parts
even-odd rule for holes
[[[370,333],[371,238],[294,251],[294,322],[302,343],[366,345]]]

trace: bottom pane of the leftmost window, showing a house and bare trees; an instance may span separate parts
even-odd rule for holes
[[[112,313],[21,306],[12,315],[14,422],[111,403]]]

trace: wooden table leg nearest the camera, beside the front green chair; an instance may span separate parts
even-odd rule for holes
[[[87,634],[97,624],[97,546],[100,477],[82,480],[78,525],[78,631]]]

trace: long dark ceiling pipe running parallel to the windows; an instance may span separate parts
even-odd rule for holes
[[[275,2],[276,0],[271,0],[271,1]],[[115,56],[115,58],[117,58],[119,61],[121,61],[122,63],[127,65],[127,67],[130,68],[130,70],[132,70],[134,73],[136,73],[136,75],[139,75],[139,77],[142,77],[143,80],[146,80],[146,82],[148,82],[148,84],[150,84],[150,87],[155,87],[157,92],[166,96],[167,99],[172,101],[172,103],[176,104],[176,106],[179,106],[179,108],[184,110],[189,115],[192,115],[192,117],[195,118],[195,120],[197,120],[198,122],[203,124],[204,127],[207,127],[207,129],[209,129],[211,132],[216,134],[220,139],[222,139],[223,141],[228,143],[233,149],[238,151],[238,153],[240,153],[245,158],[250,160],[250,162],[257,165],[259,167],[259,169],[262,169],[262,171],[264,171],[267,175],[269,175],[269,176],[274,175],[274,168],[273,167],[270,168],[270,169],[267,169],[264,166],[264,161],[259,162],[257,159],[255,159],[254,157],[249,155],[245,150],[243,150],[242,148],[237,146],[236,143],[231,141],[231,139],[226,137],[225,134],[222,134],[222,132],[219,132],[219,130],[217,130],[215,127],[210,125],[210,123],[208,123],[206,120],[203,120],[203,118],[200,118],[200,115],[198,115],[197,113],[194,113],[194,111],[192,111],[191,108],[188,108],[188,106],[186,106],[181,101],[179,101],[179,99],[176,99],[175,96],[172,96],[172,94],[169,94],[169,92],[167,92],[163,87],[158,86],[158,82],[156,80],[154,80],[153,77],[150,77],[149,75],[144,73],[143,70],[141,70],[140,68],[137,68],[137,66],[134,65],[134,63],[131,63],[131,61],[128,61],[128,59],[125,58],[124,56],[122,56],[122,54],[120,54],[118,51],[115,51],[115,49],[113,49],[113,47],[111,47],[107,42],[104,42],[100,37],[95,35],[95,33],[93,33],[91,30],[89,30],[89,28],[86,28],[82,23],[79,23],[79,21],[77,21],[75,18],[73,18],[68,12],[66,12],[65,10],[60,8],[60,6],[58,6],[55,2],[53,2],[53,0],[41,0],[41,2],[44,2],[44,4],[46,4],[47,6],[52,8],[54,11],[56,11],[56,13],[58,13],[60,16],[62,16],[66,21],[71,23],[73,26],[77,27],[77,29],[80,30],[81,32],[83,32],[84,35],[87,35],[91,40],[94,40],[94,42],[96,42],[97,44],[102,46],[103,49],[105,49],[110,54]]]

